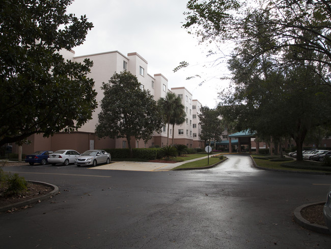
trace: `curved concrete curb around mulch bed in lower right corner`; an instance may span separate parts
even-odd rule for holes
[[[306,228],[308,230],[311,230],[311,231],[314,231],[314,232],[317,232],[317,233],[331,235],[331,233],[330,233],[330,231],[328,230],[327,227],[321,226],[321,225],[318,225],[318,224],[315,224],[315,223],[311,223],[310,221],[308,221],[307,219],[302,217],[301,213],[300,213],[301,210],[306,208],[306,207],[317,205],[317,204],[324,204],[324,203],[325,202],[316,202],[316,203],[305,204],[305,205],[302,205],[300,207],[297,207],[294,210],[294,213],[293,213],[293,217],[294,217],[295,222],[298,223],[299,226],[301,226],[303,228]]]

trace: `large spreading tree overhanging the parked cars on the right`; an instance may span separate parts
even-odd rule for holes
[[[233,42],[229,113],[261,137],[293,137],[301,160],[307,132],[330,120],[318,112],[330,97],[330,2],[192,0],[187,8],[184,27],[196,27],[201,42]]]

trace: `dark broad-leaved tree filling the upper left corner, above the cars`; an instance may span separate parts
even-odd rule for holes
[[[93,24],[66,14],[72,0],[3,0],[0,9],[0,145],[73,131],[97,107],[92,62],[65,61]]]

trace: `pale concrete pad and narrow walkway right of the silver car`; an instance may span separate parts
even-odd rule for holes
[[[211,155],[209,155],[210,157]],[[132,170],[132,171],[169,171],[173,168],[176,168],[179,165],[184,163],[189,163],[201,159],[205,159],[208,156],[200,157],[196,159],[191,159],[184,162],[178,163],[154,163],[154,162],[113,162],[106,165],[100,165],[97,167],[93,167],[91,169],[111,169],[111,170]]]

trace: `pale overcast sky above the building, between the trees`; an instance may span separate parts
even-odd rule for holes
[[[214,108],[217,93],[227,87],[216,78],[226,71],[226,64],[210,67],[206,46],[181,28],[186,4],[187,0],[75,0],[67,12],[79,17],[86,14],[94,24],[84,44],[74,48],[75,56],[136,52],[147,60],[151,76],[162,73],[168,79],[169,89],[185,87],[193,99]],[[173,72],[181,61],[190,66]],[[195,74],[202,78],[186,80]]]

